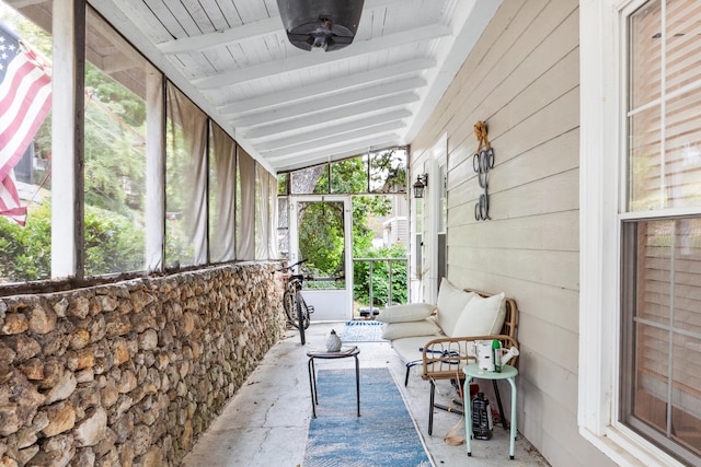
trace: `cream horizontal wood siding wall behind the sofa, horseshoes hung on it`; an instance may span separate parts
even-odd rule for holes
[[[578,16],[573,0],[504,2],[412,142],[411,164],[424,173],[447,135],[448,278],[518,304],[519,432],[554,466],[606,466],[613,464],[579,435],[576,413]],[[496,155],[492,220],[481,222],[478,120]]]

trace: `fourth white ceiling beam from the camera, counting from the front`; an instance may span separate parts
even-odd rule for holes
[[[310,114],[319,115],[320,112],[330,108],[342,108],[353,104],[360,104],[367,101],[382,98],[389,95],[401,94],[406,91],[415,91],[424,87],[426,81],[421,78],[407,78],[393,83],[381,83],[357,91],[346,91],[333,94],[324,98],[309,101],[303,104],[292,104],[281,108],[256,113],[244,118],[234,119],[231,124],[237,128],[255,127],[258,125],[273,124],[275,121],[288,120]]]

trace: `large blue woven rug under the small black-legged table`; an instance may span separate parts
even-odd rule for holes
[[[309,423],[304,467],[429,467],[423,441],[387,369],[319,370],[317,418]]]

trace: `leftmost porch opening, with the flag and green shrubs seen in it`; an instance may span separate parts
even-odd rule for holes
[[[48,11],[44,11],[44,10]],[[34,61],[38,69],[48,70],[51,60],[50,17],[53,2],[38,8],[25,5],[21,13],[0,1],[0,37],[5,50],[10,45],[23,44],[46,59]],[[43,26],[45,28],[43,28]],[[14,46],[18,50],[19,46]],[[9,95],[20,96],[11,86],[11,77],[26,54],[3,54],[0,66],[0,86]],[[16,82],[16,81],[14,81]],[[35,118],[25,117],[22,124],[28,131],[5,131],[8,121],[0,122],[0,283],[50,278],[51,250],[51,114],[50,77],[42,73],[44,85],[33,100],[44,102]],[[32,102],[32,100],[30,101]],[[26,126],[27,122],[33,125]],[[68,209],[71,209],[69,207]]]

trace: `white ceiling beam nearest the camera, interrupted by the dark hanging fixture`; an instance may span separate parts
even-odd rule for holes
[[[400,1],[401,0],[366,0],[363,11],[366,12],[368,10],[383,8]],[[157,47],[163,54],[191,54],[208,48],[235,44],[241,40],[251,40],[256,37],[266,36],[281,31],[284,31],[283,19],[279,15],[275,15],[253,23],[231,27],[229,30],[216,31],[214,33],[203,34],[199,36],[182,37],[160,43]]]

